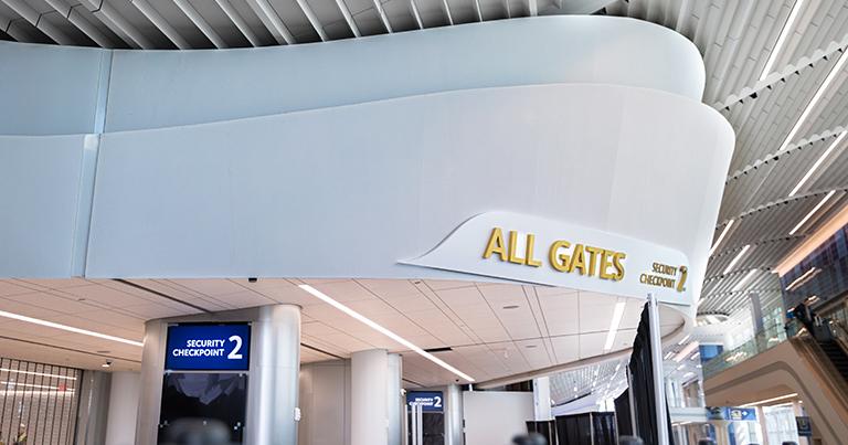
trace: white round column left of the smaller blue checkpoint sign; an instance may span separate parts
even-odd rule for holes
[[[389,354],[384,349],[350,358],[350,445],[389,444]]]

